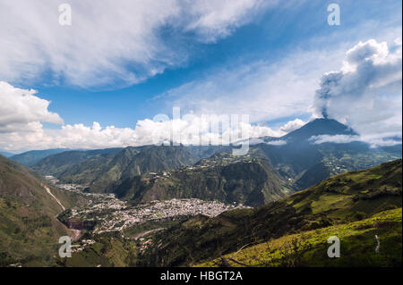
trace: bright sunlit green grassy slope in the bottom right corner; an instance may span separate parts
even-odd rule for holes
[[[379,253],[375,252],[377,235]],[[327,256],[327,239],[340,239],[340,257]],[[230,266],[401,266],[402,209],[369,219],[303,231],[223,256]],[[196,266],[222,266],[223,259]]]

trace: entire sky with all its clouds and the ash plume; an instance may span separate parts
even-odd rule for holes
[[[60,24],[60,4],[69,4],[71,25]],[[328,22],[330,4],[339,4],[339,25]],[[214,133],[206,114],[247,114],[239,125],[252,138],[325,115],[359,133],[342,141],[393,144],[401,8],[398,0],[0,0],[0,150],[140,146],[170,128],[185,143],[199,133],[238,136],[237,127]]]

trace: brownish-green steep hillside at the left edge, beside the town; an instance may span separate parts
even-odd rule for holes
[[[69,234],[56,220],[62,208],[41,183],[27,168],[0,156],[0,265],[46,265],[57,254],[59,237]],[[80,202],[51,191],[66,207]]]

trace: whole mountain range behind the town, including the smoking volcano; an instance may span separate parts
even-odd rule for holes
[[[382,148],[361,141],[313,141],[323,135],[357,136],[340,122],[316,119],[281,138],[261,138],[260,143],[251,144],[243,162],[227,157],[236,162],[231,165],[220,164],[217,155],[230,154],[232,146],[144,146],[65,151],[47,155],[32,168],[65,183],[81,184],[90,192],[115,192],[133,202],[157,197],[201,197],[263,205],[332,175],[401,157],[401,144]],[[276,141],[282,143],[273,144]],[[259,163],[246,163],[251,157]],[[202,161],[206,163],[204,167],[200,166]],[[168,171],[165,176],[150,175]],[[234,179],[237,177],[242,179]]]

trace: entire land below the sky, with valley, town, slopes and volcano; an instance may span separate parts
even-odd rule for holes
[[[319,237],[331,231],[353,240],[348,247],[360,252],[372,247],[376,232],[386,256],[365,263],[394,266],[401,263],[392,253],[401,247],[401,149],[313,143],[322,135],[355,134],[317,119],[282,138],[262,138],[242,156],[232,155],[234,146],[142,146],[14,157],[30,168],[3,157],[1,262],[344,266],[348,262],[332,264],[323,256],[313,262],[322,250]],[[284,143],[271,145],[273,139]],[[361,230],[378,220],[390,235],[383,228]],[[72,258],[56,256],[65,235],[73,240]],[[293,242],[300,248],[285,251]],[[262,248],[268,256],[253,257]]]

